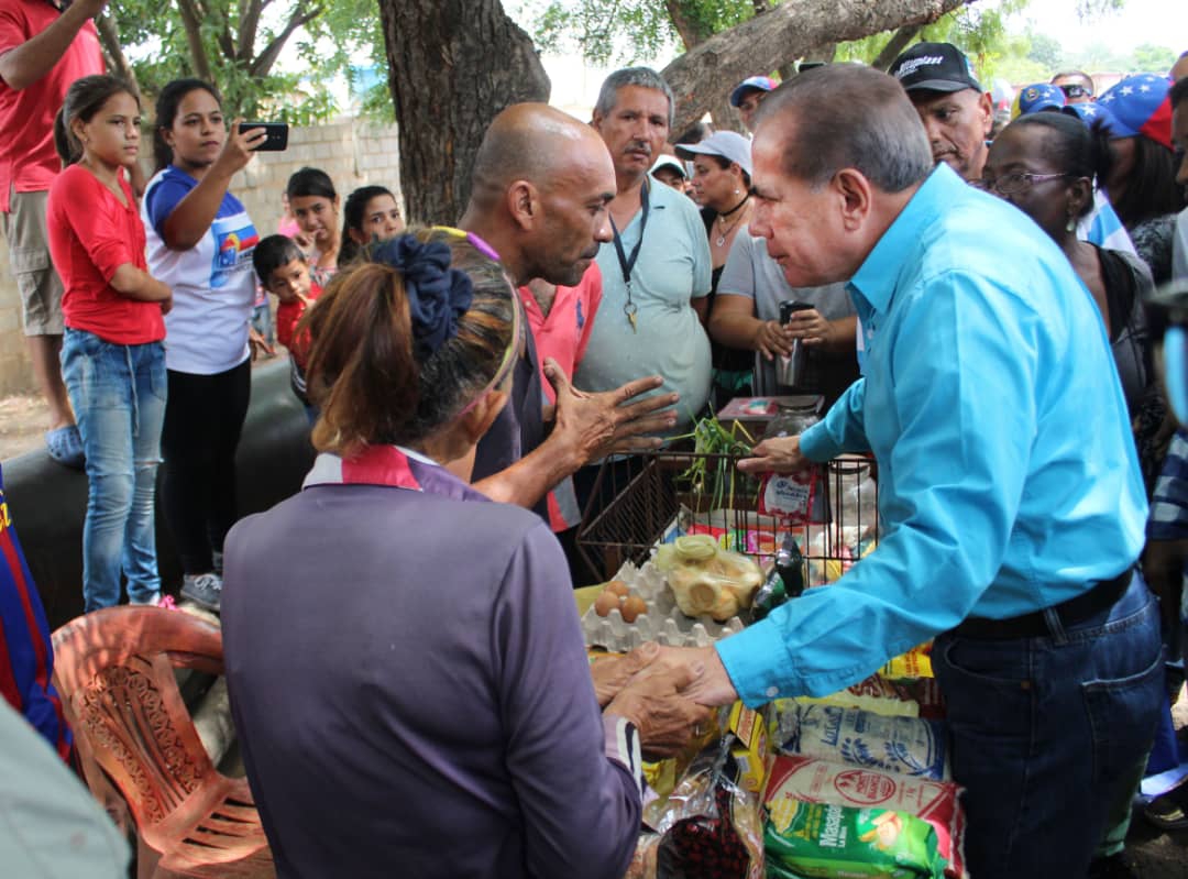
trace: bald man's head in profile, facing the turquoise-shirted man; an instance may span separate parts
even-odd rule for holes
[[[472,171],[463,227],[499,251],[517,283],[574,285],[611,238],[614,166],[598,133],[543,103],[492,121]]]

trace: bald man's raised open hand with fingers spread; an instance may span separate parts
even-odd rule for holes
[[[569,384],[564,369],[552,358],[544,361],[544,374],[557,396],[556,424],[550,438],[570,442],[583,464],[613,453],[655,449],[661,440],[647,435],[676,424],[671,406],[678,394],[636,399],[664,384],[659,375],[636,379],[613,391],[587,393]]]

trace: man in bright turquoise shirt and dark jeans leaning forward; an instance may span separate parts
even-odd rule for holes
[[[835,584],[684,658],[700,700],[823,695],[936,638],[972,875],[1083,875],[1155,729],[1146,501],[1101,320],[1023,214],[933,170],[890,77],[814,70],[767,99],[753,234],[795,286],[851,278],[866,371],[748,472],[879,466],[879,546]]]

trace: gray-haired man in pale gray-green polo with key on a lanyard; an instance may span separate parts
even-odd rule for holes
[[[574,384],[609,391],[640,375],[681,394],[676,432],[709,397],[709,244],[696,207],[647,171],[668,139],[672,90],[655,70],[626,68],[602,83],[593,126],[614,163],[614,240],[599,248],[602,304]]]

